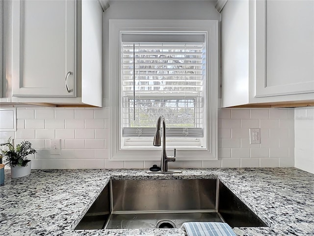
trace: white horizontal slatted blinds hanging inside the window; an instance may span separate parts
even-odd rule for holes
[[[122,37],[121,42],[122,136],[153,137],[157,118],[163,115],[167,138],[204,137],[204,35],[189,35],[194,37],[188,37],[188,42],[173,42],[168,35],[170,43],[153,42],[153,37],[147,35],[146,42],[133,42],[132,36]]]

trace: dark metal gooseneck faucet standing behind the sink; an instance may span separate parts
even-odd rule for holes
[[[166,120],[164,116],[159,116],[156,124],[156,132],[154,136],[154,146],[161,146],[161,136],[160,136],[160,126],[162,122],[162,152],[161,152],[161,161],[160,169],[161,172],[168,171],[168,161],[176,161],[176,148],[174,149],[174,156],[167,156],[166,153]]]

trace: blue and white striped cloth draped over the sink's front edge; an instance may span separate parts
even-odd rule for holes
[[[188,236],[236,236],[227,223],[185,222],[181,228],[183,227]]]

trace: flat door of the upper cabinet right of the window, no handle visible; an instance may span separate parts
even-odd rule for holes
[[[314,1],[256,1],[255,97],[314,92]]]

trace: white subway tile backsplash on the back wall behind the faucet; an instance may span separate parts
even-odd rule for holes
[[[178,158],[169,163],[169,168],[294,167],[294,119],[313,120],[313,110],[295,109],[294,114],[293,108],[219,109],[218,160]],[[300,130],[307,127],[296,125]],[[261,129],[261,144],[250,144],[249,128]],[[109,108],[18,107],[17,131],[0,132],[1,143],[10,136],[15,142],[30,140],[38,150],[32,156],[34,169],[131,169],[158,164],[158,161],[109,160]],[[61,139],[61,155],[50,154],[51,139]],[[302,145],[297,144],[301,151]]]

